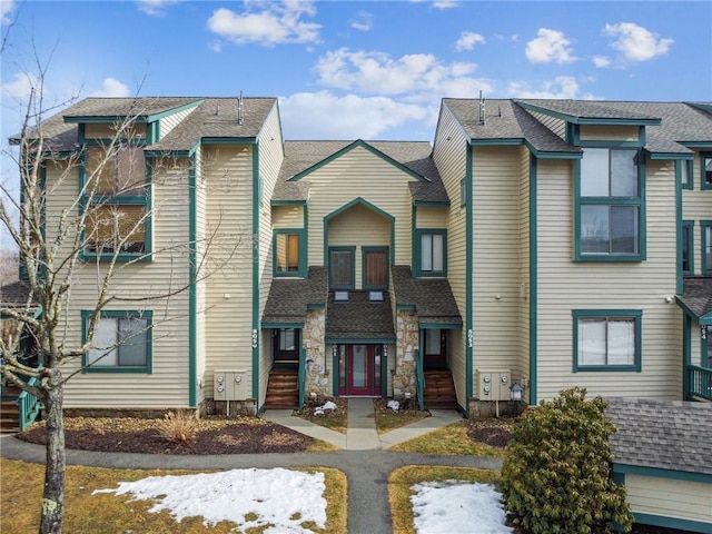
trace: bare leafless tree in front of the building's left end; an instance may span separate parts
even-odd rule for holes
[[[59,533],[65,505],[65,385],[87,366],[100,365],[118,345],[140,343],[146,330],[161,320],[147,322],[140,314],[127,317],[130,324],[125,327],[126,332],[107,342],[97,335],[107,307],[127,300],[141,308],[168,303],[224,268],[239,248],[241,233],[225,233],[218,224],[199,239],[177,239],[149,250],[146,224],[161,205],[129,205],[123,209],[117,207],[116,199],[145,195],[148,187],[161,187],[160,178],[147,182],[144,150],[135,142],[141,136],[144,125],[139,125],[139,119],[145,113],[144,106],[150,100],[126,99],[126,109],[111,125],[110,138],[102,137],[100,144],[91,146],[80,144],[79,139],[71,150],[66,150],[56,145],[57,135],[48,126],[52,119],[47,119],[43,102],[43,71],[36,79],[39,85],[24,105],[21,131],[12,138],[19,149],[14,159],[21,198],[0,185],[0,221],[19,250],[26,275],[22,300],[12,305],[0,301],[0,314],[16,324],[14,328],[7,328],[0,339],[0,372],[3,379],[43,404],[47,454],[40,532]],[[161,168],[170,170],[165,174],[170,175],[166,180],[185,178],[190,165],[186,158],[168,155],[150,161],[154,176],[161,176]],[[184,185],[187,187],[188,181]],[[73,192],[67,196],[68,190]],[[61,209],[56,204],[49,209],[48,199],[59,197]],[[164,200],[165,204],[181,201],[187,202],[185,196]],[[19,214],[19,221],[14,220],[13,212]],[[221,251],[219,261],[208,265],[209,250],[215,247],[227,250]],[[148,255],[170,258],[171,265],[176,265],[175,276],[140,293],[118,290],[113,284],[118,274],[140,265]],[[194,274],[186,275],[188,270]],[[83,340],[78,343],[69,335],[71,294],[79,277],[86,284],[89,271],[92,286],[96,285],[96,298],[92,297],[86,316]],[[167,308],[167,304],[165,306]],[[175,319],[175,315],[168,317],[166,312],[165,320],[171,318]],[[39,365],[22,358],[24,355],[19,350],[22,337],[32,339]]]

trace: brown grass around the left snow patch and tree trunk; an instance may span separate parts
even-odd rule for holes
[[[0,458],[2,494],[0,517],[2,532],[37,532],[39,527],[40,501],[44,467],[40,464]],[[298,471],[322,472],[325,475],[327,523],[315,533],[346,534],[346,475],[328,467],[309,467]],[[200,517],[185,518],[177,523],[168,513],[149,513],[150,501],[132,501],[130,495],[97,494],[95,490],[117,487],[119,482],[129,482],[147,476],[180,475],[189,471],[139,471],[107,469],[101,467],[67,467],[67,492],[65,497],[65,532],[95,534],[98,532],[150,532],[151,534],[221,534],[235,533],[235,524],[220,522],[206,526]],[[250,534],[265,528],[250,530]]]

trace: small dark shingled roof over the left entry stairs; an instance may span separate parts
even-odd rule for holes
[[[326,267],[309,267],[308,278],[271,280],[263,323],[304,323],[309,306],[325,306],[327,295]]]

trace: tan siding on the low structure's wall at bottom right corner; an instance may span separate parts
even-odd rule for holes
[[[712,525],[712,484],[625,475],[631,512]]]

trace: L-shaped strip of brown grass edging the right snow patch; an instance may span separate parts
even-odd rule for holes
[[[415,534],[411,487],[422,482],[463,481],[497,486],[502,481],[498,471],[464,467],[439,467],[409,465],[390,473],[388,477],[388,502],[393,517],[394,534]]]

